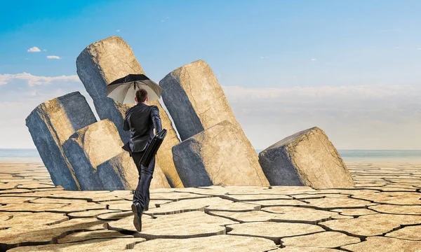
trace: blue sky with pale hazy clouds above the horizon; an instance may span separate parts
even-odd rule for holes
[[[29,112],[83,92],[76,78],[45,77],[74,76],[86,45],[117,35],[156,81],[208,62],[255,148],[319,126],[342,149],[421,149],[420,9],[410,0],[8,1],[0,148],[32,148]]]

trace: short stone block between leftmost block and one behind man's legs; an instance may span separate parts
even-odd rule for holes
[[[63,149],[74,169],[81,190],[103,190],[97,168],[119,155],[123,143],[110,120],[100,120],[72,134]]]

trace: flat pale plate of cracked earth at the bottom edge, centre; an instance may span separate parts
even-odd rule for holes
[[[276,248],[276,245],[269,239],[236,235],[215,235],[189,239],[153,239],[136,244],[134,251],[261,252],[274,248]]]

